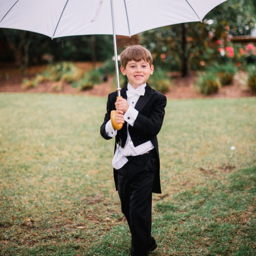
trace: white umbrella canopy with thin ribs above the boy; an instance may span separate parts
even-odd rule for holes
[[[131,36],[183,22],[201,21],[226,0],[113,0],[115,34]],[[110,0],[0,0],[0,27],[51,38],[113,34]]]

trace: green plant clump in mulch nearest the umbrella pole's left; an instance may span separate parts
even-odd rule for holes
[[[80,90],[87,90],[93,88],[95,84],[100,84],[101,81],[101,72],[94,69],[86,72],[80,80],[73,82],[72,86]]]

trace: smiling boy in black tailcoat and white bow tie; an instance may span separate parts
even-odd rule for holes
[[[157,247],[151,236],[151,205],[152,192],[161,193],[156,135],[167,100],[146,83],[154,72],[146,48],[127,47],[121,53],[121,72],[129,83],[121,90],[122,98],[117,99],[117,92],[109,94],[101,135],[115,137],[115,188],[131,232],[131,255],[143,256]],[[117,123],[123,123],[120,130],[115,130],[110,120],[114,109]]]

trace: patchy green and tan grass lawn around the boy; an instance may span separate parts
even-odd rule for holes
[[[129,255],[105,104],[0,94],[0,255]],[[255,113],[253,97],[168,100],[152,255],[255,253]]]

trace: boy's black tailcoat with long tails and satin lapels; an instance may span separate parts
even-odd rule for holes
[[[121,96],[127,99],[126,96],[127,86],[122,88]],[[111,139],[106,134],[105,126],[106,123],[110,119],[110,112],[115,110],[115,101],[117,100],[117,92],[110,93],[108,96],[108,102],[106,106],[106,114],[104,118],[104,122],[101,125],[101,135],[105,139]],[[159,133],[164,119],[164,108],[166,106],[167,100],[164,94],[157,92],[152,89],[150,85],[146,85],[144,96],[140,96],[137,104],[135,105],[135,109],[138,110],[138,116],[134,122],[133,126],[128,127],[129,134],[131,140],[135,147],[144,142],[151,141],[154,145],[157,155],[158,155],[158,167],[155,174],[155,182],[152,192],[161,193],[160,187],[160,160],[159,160],[159,150],[158,150],[158,139],[156,135]],[[117,131],[117,135],[115,136],[115,148],[116,145],[119,144],[121,147],[125,146],[127,139],[127,123],[123,124],[122,129]],[[115,188],[117,189],[118,182],[118,171],[114,169],[114,180],[115,180]]]

